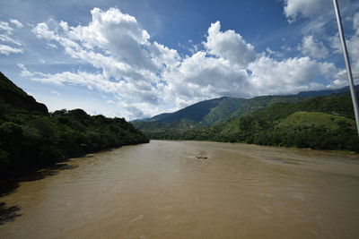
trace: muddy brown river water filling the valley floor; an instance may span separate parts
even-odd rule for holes
[[[0,198],[0,238],[359,238],[350,153],[151,141],[59,168]]]

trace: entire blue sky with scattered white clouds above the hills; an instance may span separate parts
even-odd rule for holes
[[[338,4],[356,79],[359,1]],[[331,0],[1,1],[0,71],[50,111],[127,120],[347,85]]]

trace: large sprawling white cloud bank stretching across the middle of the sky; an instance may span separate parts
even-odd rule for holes
[[[269,48],[269,55],[256,52],[241,34],[221,30],[220,21],[209,26],[203,50],[180,55],[151,40],[135,17],[117,8],[94,8],[91,13],[88,24],[71,26],[66,21],[49,20],[32,29],[46,41],[45,47],[57,46],[57,51],[63,50],[88,67],[40,73],[18,66],[22,76],[33,81],[112,94],[121,116],[128,119],[171,112],[209,98],[249,98],[334,87],[330,77],[339,71],[334,64],[307,56],[277,60],[271,55],[280,53]],[[319,41],[313,42],[320,46]],[[313,49],[311,45],[307,48]]]

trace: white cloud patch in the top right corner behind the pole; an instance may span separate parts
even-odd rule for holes
[[[304,37],[302,44],[297,47],[302,55],[310,55],[313,58],[324,59],[335,54],[342,54],[340,38],[338,34],[328,35],[328,32],[336,32],[334,6],[332,1],[327,0],[284,0],[284,13],[289,22],[300,18],[304,21],[301,31]],[[359,74],[359,2],[353,0],[339,1],[339,11],[342,15],[344,28],[346,30],[346,45],[352,60],[354,73]],[[352,24],[350,24],[352,23]],[[352,28],[352,30],[349,30]],[[354,33],[353,33],[354,32]],[[326,46],[324,43],[328,43]],[[330,50],[329,48],[330,47]],[[338,70],[341,72],[340,70]],[[337,77],[343,74],[337,73]],[[343,80],[343,79],[342,79]],[[336,82],[341,81],[336,78]]]

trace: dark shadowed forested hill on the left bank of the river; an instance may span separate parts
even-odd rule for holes
[[[123,118],[58,110],[36,102],[0,74],[0,177],[66,158],[148,142]]]

